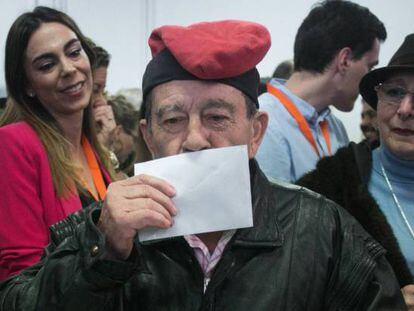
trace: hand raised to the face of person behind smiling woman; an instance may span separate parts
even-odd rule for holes
[[[105,147],[109,147],[110,135],[116,128],[114,112],[110,105],[101,105],[93,108],[93,117],[99,125],[98,140]]]

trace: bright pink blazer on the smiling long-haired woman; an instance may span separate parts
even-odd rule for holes
[[[49,243],[49,226],[82,206],[76,193],[57,197],[46,150],[25,122],[0,128],[0,193],[3,280],[36,263]]]

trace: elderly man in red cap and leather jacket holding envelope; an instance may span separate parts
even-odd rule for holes
[[[141,130],[153,156],[247,145],[253,227],[143,244],[139,230],[174,226],[175,189],[148,175],[115,182],[101,208],[52,228],[45,259],[0,288],[2,310],[404,310],[383,248],[334,203],[269,183],[254,160],[268,31],[164,26],[149,43]]]

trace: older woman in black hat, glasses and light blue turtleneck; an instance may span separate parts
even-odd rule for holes
[[[351,143],[298,184],[342,205],[382,244],[414,310],[414,34],[387,67],[365,75],[360,92],[377,110],[380,147]]]

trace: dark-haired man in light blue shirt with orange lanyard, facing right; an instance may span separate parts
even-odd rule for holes
[[[259,98],[269,126],[257,160],[267,177],[296,181],[348,144],[332,105],[351,111],[362,76],[378,63],[383,23],[367,8],[326,1],[311,10],[295,39],[295,71],[272,79]]]

